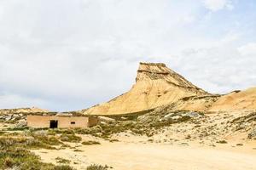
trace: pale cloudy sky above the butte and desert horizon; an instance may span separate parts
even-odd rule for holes
[[[0,108],[76,111],[140,61],[214,94],[256,87],[255,0],[0,0]]]

